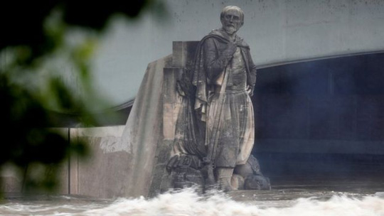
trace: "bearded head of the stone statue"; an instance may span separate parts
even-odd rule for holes
[[[226,6],[220,13],[220,21],[223,29],[233,35],[244,24],[244,12],[238,6]]]

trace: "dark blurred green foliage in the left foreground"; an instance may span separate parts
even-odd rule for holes
[[[23,175],[24,191],[52,191],[60,164],[69,156],[87,155],[82,141],[68,141],[54,126],[51,111],[76,114],[82,126],[97,124],[92,109],[90,59],[109,19],[115,14],[136,18],[151,9],[161,14],[164,4],[137,1],[7,1],[2,6],[0,40],[0,169],[13,165]],[[80,42],[68,32],[80,29]],[[78,81],[74,92],[60,76],[60,60],[70,65]],[[102,100],[100,100],[101,102]],[[63,130],[62,130],[63,131]]]

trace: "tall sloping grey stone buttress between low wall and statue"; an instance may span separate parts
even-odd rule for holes
[[[171,64],[171,55],[150,63],[124,128],[122,141],[129,146],[132,172],[125,179],[127,195],[148,195],[155,163],[156,148],[163,139],[163,69]]]

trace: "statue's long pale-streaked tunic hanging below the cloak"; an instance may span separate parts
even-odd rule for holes
[[[228,72],[228,83],[220,119],[215,118],[218,117],[217,112],[220,109],[218,93],[221,85],[215,85],[215,92],[208,99],[206,139],[209,141],[211,136],[215,136],[214,122],[220,121],[215,165],[235,167],[247,161],[255,141],[253,108],[246,92],[247,75],[240,48],[237,48],[225,71]],[[220,76],[219,79],[222,77]]]

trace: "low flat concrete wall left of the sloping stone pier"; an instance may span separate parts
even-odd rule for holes
[[[129,153],[119,148],[124,126],[70,129],[70,139],[86,141],[90,158],[71,157],[69,194],[112,198],[125,195]]]

